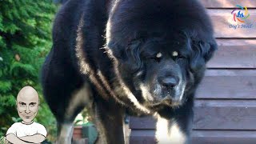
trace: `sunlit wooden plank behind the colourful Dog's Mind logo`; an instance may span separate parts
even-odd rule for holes
[[[256,10],[249,10],[250,17],[246,22],[234,22],[232,10],[207,10],[214,25],[214,36],[216,38],[256,38]],[[230,27],[240,26],[236,29]],[[251,26],[242,28],[241,25]]]

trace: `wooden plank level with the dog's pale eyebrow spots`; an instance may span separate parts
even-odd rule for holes
[[[256,40],[218,40],[208,68],[256,68]]]

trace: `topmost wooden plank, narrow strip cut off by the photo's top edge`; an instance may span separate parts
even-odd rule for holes
[[[206,8],[235,8],[236,5],[246,6],[247,8],[255,8],[254,0],[200,0]]]

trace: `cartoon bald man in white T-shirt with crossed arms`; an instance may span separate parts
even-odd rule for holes
[[[34,122],[38,113],[38,93],[31,86],[25,86],[17,96],[18,115],[22,122],[15,122],[6,133],[6,140],[14,144],[41,143],[46,139],[46,128]]]

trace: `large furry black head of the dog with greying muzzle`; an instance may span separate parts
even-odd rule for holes
[[[217,48],[209,18],[202,7],[194,12],[201,5],[189,1],[179,2],[183,12],[167,1],[146,6],[134,1],[124,13],[129,2],[116,4],[108,23],[107,46],[118,59],[118,71],[146,106],[182,105]]]

